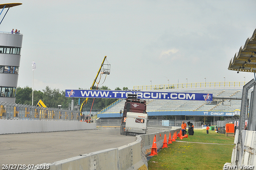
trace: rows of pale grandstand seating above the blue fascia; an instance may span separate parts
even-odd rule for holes
[[[187,93],[205,93],[213,94],[213,96],[224,97],[242,97],[242,87],[218,87],[218,88],[179,88],[179,89],[162,89],[159,92],[187,92]],[[252,90],[248,92],[248,98]],[[213,103],[206,101],[192,100],[146,100],[147,112],[163,112],[163,111],[212,111],[212,112],[234,112],[241,108],[241,100],[230,99],[213,99]],[[103,113],[119,113],[124,109],[125,100],[119,102],[114,107]],[[250,105],[249,105],[250,106]]]

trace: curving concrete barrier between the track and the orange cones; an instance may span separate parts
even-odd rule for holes
[[[164,134],[168,139],[170,132],[173,136],[177,130],[180,130],[180,128],[154,134],[138,135],[135,142],[119,148],[92,152],[50,164],[45,163],[42,166],[49,166],[50,170],[147,170],[146,156],[151,153],[154,136],[156,136],[156,146],[159,150],[163,146]]]

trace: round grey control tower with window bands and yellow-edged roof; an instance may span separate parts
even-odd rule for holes
[[[4,9],[7,13],[10,7],[18,5],[21,3],[0,4],[0,9],[2,9],[0,15]],[[23,35],[19,32],[15,33],[15,30],[14,32],[0,32],[0,102],[15,103],[22,39]]]

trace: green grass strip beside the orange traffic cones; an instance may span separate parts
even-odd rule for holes
[[[194,130],[193,136],[176,139],[148,161],[149,170],[222,170],[231,162],[234,137],[226,137],[214,131]],[[192,143],[202,142],[202,143]],[[207,144],[212,143],[212,144]],[[224,145],[220,145],[224,144]]]

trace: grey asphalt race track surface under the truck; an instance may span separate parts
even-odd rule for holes
[[[164,130],[149,129],[149,133]],[[0,165],[52,163],[132,143],[120,128],[0,135]]]

